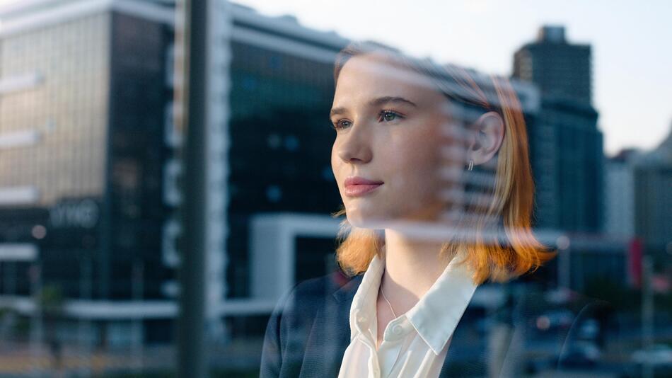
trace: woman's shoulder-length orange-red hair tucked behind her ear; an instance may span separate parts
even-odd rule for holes
[[[426,59],[407,57],[390,47],[361,42],[348,45],[337,55],[335,83],[350,58],[373,52],[382,53],[386,62],[396,68],[427,76],[449,102],[480,113],[495,111],[504,120],[504,140],[493,158],[497,159],[496,170],[489,175],[494,176],[494,180],[480,185],[481,194],[485,195],[475,195],[477,200],[458,205],[463,215],[451,227],[459,232],[448,237],[439,253],[458,256],[461,251],[461,263],[469,265],[477,285],[485,280],[510,280],[536,270],[553,258],[555,251],[535,239],[531,229],[534,182],[528,138],[521,103],[511,83],[502,77],[477,76],[460,67],[439,66]],[[484,85],[489,86],[490,91],[484,91],[481,87]],[[477,175],[480,170],[482,168],[474,167],[464,174]],[[482,171],[480,174],[487,175]],[[346,214],[344,207],[332,216],[343,214]],[[337,263],[344,273],[352,276],[363,273],[374,255],[382,257],[385,241],[381,232],[352,227],[346,218],[341,222],[338,243]]]

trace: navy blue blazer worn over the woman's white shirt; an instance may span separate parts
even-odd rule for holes
[[[285,294],[267,325],[260,377],[337,377],[350,343],[349,310],[361,279],[362,275],[357,275],[343,284],[343,276],[335,272],[301,282]],[[500,340],[505,346],[497,352],[485,340],[478,340],[483,336],[463,316],[453,332],[439,377],[510,377],[523,369],[518,364],[523,360],[525,343],[530,341],[526,330],[538,302],[524,297],[511,298],[509,309],[513,310],[499,317],[502,329],[509,331],[502,333]],[[551,355],[557,356],[550,362],[552,369],[562,367],[567,346],[577,337],[577,324],[601,307],[598,301],[577,305],[571,311],[572,326],[550,341],[555,345]]]

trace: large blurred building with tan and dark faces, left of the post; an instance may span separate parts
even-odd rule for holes
[[[110,320],[91,314],[165,299],[175,275],[161,250],[173,11],[84,3],[0,14],[0,297],[57,287],[87,301],[75,318]]]

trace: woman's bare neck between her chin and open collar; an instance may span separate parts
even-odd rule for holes
[[[397,314],[410,310],[444,272],[441,243],[385,230],[385,272],[381,286]]]

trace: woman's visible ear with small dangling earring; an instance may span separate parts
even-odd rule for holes
[[[467,146],[467,161],[473,160],[475,166],[485,164],[502,147],[504,120],[499,113],[488,112],[473,123],[472,130]]]

